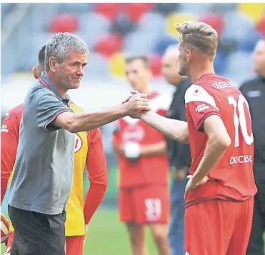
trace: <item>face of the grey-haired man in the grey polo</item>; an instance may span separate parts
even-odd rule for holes
[[[62,89],[77,89],[84,75],[87,54],[69,51],[68,56],[59,64],[56,62],[54,74]]]

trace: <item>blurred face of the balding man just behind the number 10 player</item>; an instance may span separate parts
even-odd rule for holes
[[[174,54],[165,54],[162,61],[162,71],[166,82],[172,85],[179,84],[181,76],[178,74],[178,56]]]

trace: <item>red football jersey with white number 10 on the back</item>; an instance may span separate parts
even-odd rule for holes
[[[253,174],[254,139],[249,104],[228,79],[205,74],[185,94],[186,119],[191,146],[190,174],[194,174],[208,141],[204,120],[219,115],[231,138],[231,145],[208,176],[208,181],[186,194],[186,206],[208,199],[243,201],[256,194]]]

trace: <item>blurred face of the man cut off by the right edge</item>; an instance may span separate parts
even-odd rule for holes
[[[260,40],[256,44],[253,53],[254,71],[256,74],[265,75],[265,41]]]

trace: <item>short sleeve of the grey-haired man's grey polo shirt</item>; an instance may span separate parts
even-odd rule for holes
[[[46,94],[41,96],[37,103],[38,126],[40,128],[46,129],[47,131],[55,131],[60,129],[58,126],[53,125],[53,121],[64,111],[72,110],[55,95]]]

